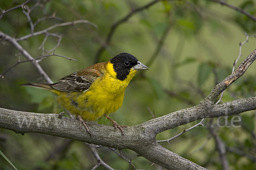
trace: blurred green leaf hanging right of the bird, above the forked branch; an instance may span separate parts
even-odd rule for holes
[[[201,86],[212,72],[212,67],[207,63],[201,63],[198,68],[198,86]]]

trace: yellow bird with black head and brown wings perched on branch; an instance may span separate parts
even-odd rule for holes
[[[108,62],[99,62],[80,71],[76,71],[58,80],[56,83],[27,83],[25,86],[43,88],[57,95],[58,103],[69,113],[77,116],[91,135],[86,121],[93,121],[105,116],[118,125],[109,114],[122,106],[125,88],[137,71],[148,67],[128,53],[120,53]]]

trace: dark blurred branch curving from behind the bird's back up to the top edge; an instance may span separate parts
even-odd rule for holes
[[[150,6],[154,5],[155,3],[159,2],[160,0],[153,0],[151,1],[150,3],[147,3],[146,5],[144,6],[141,6],[141,7],[138,7],[138,8],[135,8],[134,10],[132,10],[131,12],[129,12],[127,15],[125,15],[125,17],[119,19],[118,21],[116,21],[116,23],[113,23],[113,25],[111,26],[110,28],[110,31],[108,32],[108,36],[105,40],[105,42],[109,45],[110,44],[110,41],[113,37],[113,34],[114,32],[116,31],[116,28],[118,28],[119,25],[121,25],[122,23],[124,23],[125,21],[129,20],[134,14],[136,14],[137,12],[140,12],[146,8],[149,8]],[[106,46],[106,45],[105,45]],[[102,52],[105,50],[105,46],[101,46],[99,48],[99,50],[97,51],[95,57],[94,57],[94,62],[99,62],[99,58],[100,58],[100,55],[102,54]]]

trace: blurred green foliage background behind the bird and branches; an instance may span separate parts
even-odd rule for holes
[[[9,9],[24,0],[0,0],[2,9]],[[111,26],[125,17],[131,10],[144,6],[149,0],[42,0],[30,13],[32,21],[55,14],[64,21],[89,20],[97,25],[77,24],[55,28],[49,32],[62,34],[62,40],[55,54],[64,55],[78,61],[61,57],[47,57],[40,65],[55,82],[75,71],[95,63],[96,53],[104,43]],[[36,1],[27,4],[30,8]],[[252,15],[256,15],[255,0],[228,0],[230,3]],[[61,23],[59,20],[44,20],[35,26],[35,31]],[[21,37],[30,34],[30,26],[22,9],[18,8],[4,15],[0,20],[0,31]],[[209,94],[214,85],[232,71],[233,62],[239,55],[239,42],[249,35],[256,34],[256,22],[245,15],[218,3],[207,0],[160,1],[150,8],[134,14],[119,25],[107,48],[97,62],[108,61],[120,52],[128,52],[150,68],[138,73],[125,91],[125,99],[111,118],[120,125],[133,126],[167,113],[196,105]],[[33,57],[42,55],[38,50],[44,35],[20,41]],[[49,37],[45,50],[53,48],[58,38]],[[163,42],[159,45],[159,42]],[[242,57],[238,64],[256,48],[256,38],[242,46]],[[159,49],[159,53],[157,53]],[[157,55],[155,55],[157,54]],[[7,42],[0,42],[0,74],[17,62],[26,60],[17,49]],[[236,65],[236,66],[237,66]],[[247,72],[224,93],[223,102],[256,96],[255,63]],[[63,111],[48,91],[21,87],[28,82],[44,82],[30,62],[12,68],[0,79],[0,107],[18,111],[39,113],[60,113]],[[255,111],[241,114],[240,127],[217,127],[215,132],[227,147],[227,159],[231,170],[256,169],[256,116]],[[227,122],[233,116],[228,117]],[[225,119],[220,119],[221,125]],[[104,118],[97,120],[110,125]],[[157,135],[157,140],[169,139],[182,130],[195,125],[176,127]],[[209,120],[204,121],[209,126]],[[212,170],[222,169],[219,153],[209,129],[197,127],[168,144],[161,143],[180,156]],[[59,147],[61,151],[55,151]],[[232,152],[236,148],[240,154]],[[24,136],[10,130],[0,129],[0,150],[12,161],[18,170],[80,170],[91,169],[96,160],[82,142],[62,139],[55,136],[29,134]],[[118,151],[118,150],[117,150]],[[99,148],[99,155],[107,164],[117,170],[133,169],[124,159],[108,148]],[[132,159],[137,169],[158,170],[157,166],[137,157],[131,150],[123,150],[124,156]],[[55,153],[51,157],[51,154]],[[245,156],[242,153],[246,153]],[[250,156],[248,156],[250,155]],[[254,159],[253,159],[254,158]],[[0,156],[0,169],[12,169]],[[103,170],[103,167],[99,167]]]

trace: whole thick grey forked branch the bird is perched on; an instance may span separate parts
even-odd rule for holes
[[[16,133],[43,133],[82,142],[105,145],[117,149],[128,148],[140,156],[167,169],[203,169],[156,143],[156,134],[202,118],[230,116],[256,109],[256,97],[238,99],[220,105],[197,105],[149,120],[140,125],[124,128],[125,136],[113,127],[88,122],[92,137],[85,129],[79,130],[79,121],[57,114],[12,111],[0,108],[0,127]],[[186,162],[180,164],[179,162]]]

